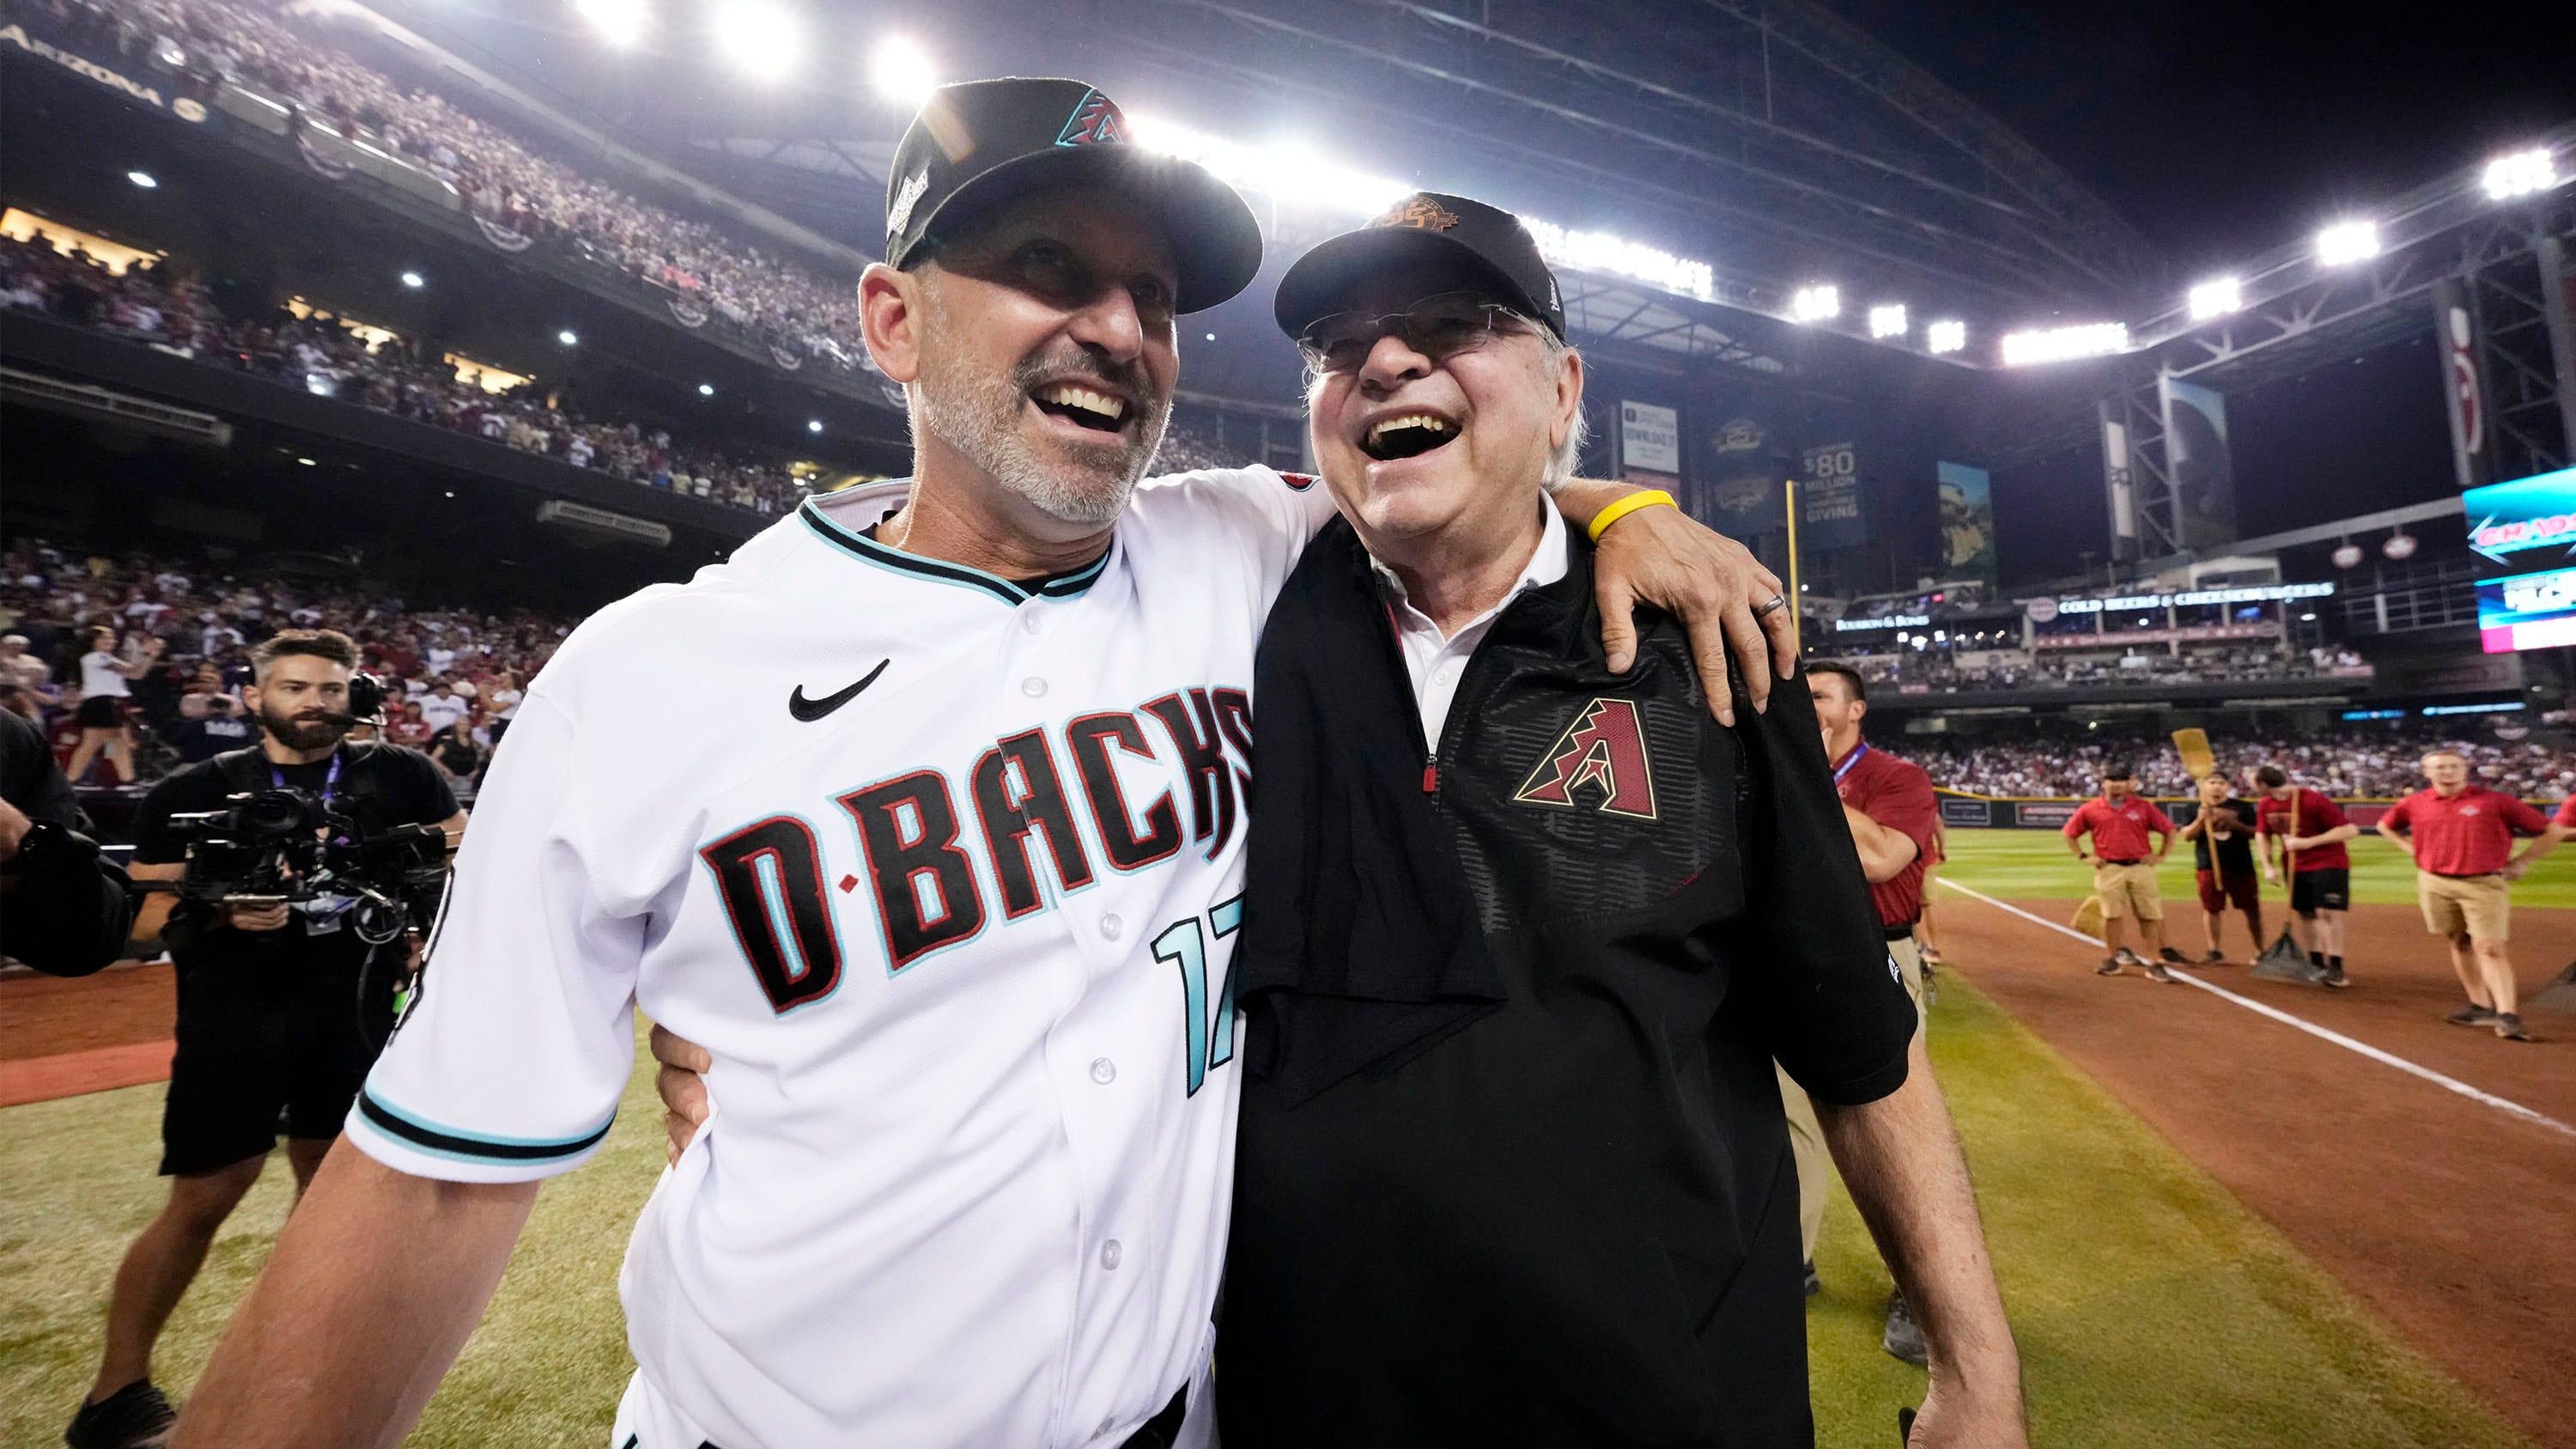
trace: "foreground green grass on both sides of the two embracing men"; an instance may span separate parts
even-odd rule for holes
[[[1976,853],[1984,841],[1965,846]],[[1978,1176],[2032,1441],[2081,1449],[2527,1446],[2161,1137],[1953,975],[1932,1057]],[[0,1111],[0,1444],[52,1444],[108,1276],[160,1204],[160,1088]],[[636,1073],[598,1163],[538,1196],[500,1297],[410,1444],[605,1449],[629,1374],[618,1258],[662,1165]],[[183,1395],[283,1220],[273,1160],[162,1341]],[[1888,1279],[1839,1196],[1808,1323],[1819,1441],[1896,1444],[1922,1374],[1878,1351]]]

